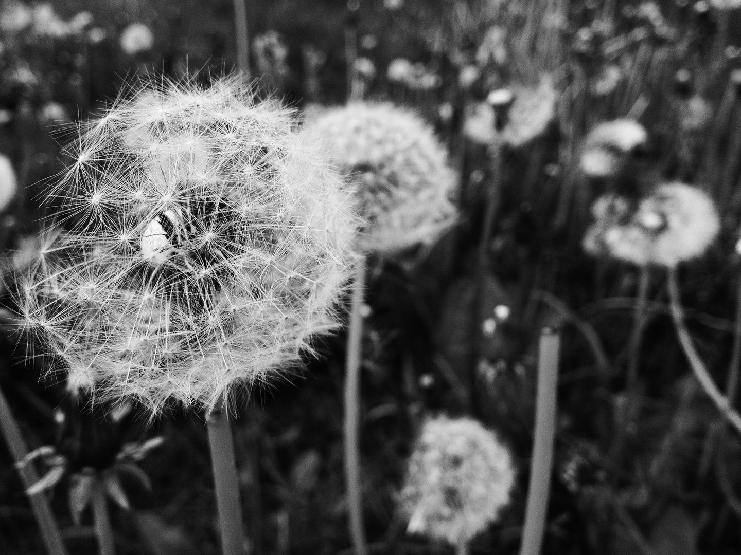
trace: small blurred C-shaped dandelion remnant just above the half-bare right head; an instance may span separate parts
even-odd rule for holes
[[[637,121],[623,118],[594,127],[584,140],[579,160],[582,171],[592,178],[617,174],[624,157],[648,141],[648,133]]]

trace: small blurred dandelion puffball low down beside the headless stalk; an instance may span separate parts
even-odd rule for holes
[[[452,545],[468,542],[508,505],[515,475],[508,448],[476,420],[428,420],[401,494],[407,531]]]

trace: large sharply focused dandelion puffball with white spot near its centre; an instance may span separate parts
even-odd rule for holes
[[[84,124],[18,278],[28,326],[93,400],[212,409],[338,325],[353,199],[291,112],[236,79],[149,84]]]

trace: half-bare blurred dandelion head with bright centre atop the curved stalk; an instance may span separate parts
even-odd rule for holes
[[[713,200],[697,187],[671,183],[658,186],[637,209],[623,198],[599,198],[584,248],[645,266],[677,266],[708,249],[720,230]]]

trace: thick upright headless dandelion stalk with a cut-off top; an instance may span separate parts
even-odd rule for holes
[[[525,509],[520,555],[539,555],[545,532],[548,492],[556,437],[556,386],[561,338],[553,329],[540,333],[535,440],[530,465],[530,487]]]

